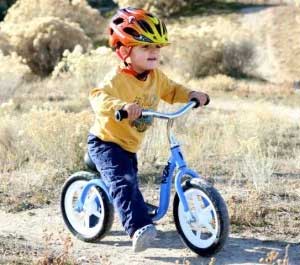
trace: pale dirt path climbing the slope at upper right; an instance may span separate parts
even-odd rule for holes
[[[299,80],[300,8],[254,7],[242,10],[241,23],[257,46],[258,74],[275,83]],[[282,19],[284,18],[284,19]]]

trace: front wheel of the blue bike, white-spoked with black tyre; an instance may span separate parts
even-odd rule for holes
[[[229,234],[229,216],[219,192],[198,179],[187,180],[183,186],[194,222],[188,222],[178,194],[173,215],[176,229],[184,244],[200,256],[209,257],[224,246]]]

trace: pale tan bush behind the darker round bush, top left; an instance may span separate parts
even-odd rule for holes
[[[104,18],[85,0],[22,0],[12,6],[5,23],[22,25],[39,17],[57,17],[76,22],[93,41],[103,38],[106,28]]]

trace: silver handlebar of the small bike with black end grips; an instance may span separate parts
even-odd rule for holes
[[[200,102],[196,98],[192,98],[190,102],[188,102],[186,105],[181,107],[179,110],[172,112],[172,113],[162,113],[157,112],[153,110],[142,110],[141,117],[153,117],[153,118],[159,118],[159,119],[175,119],[177,117],[180,117],[184,113],[186,113],[188,110],[192,108],[198,108],[200,106]],[[128,113],[126,110],[120,109],[115,112],[115,118],[117,121],[122,121],[123,119],[128,118]]]

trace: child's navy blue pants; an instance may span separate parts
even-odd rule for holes
[[[114,207],[128,235],[132,237],[137,229],[152,224],[138,187],[136,154],[93,134],[88,136],[88,152],[109,187]]]

